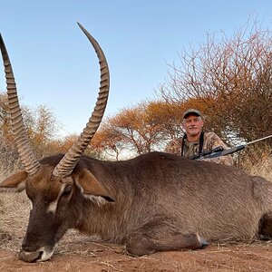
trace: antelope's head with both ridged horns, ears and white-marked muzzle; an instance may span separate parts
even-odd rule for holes
[[[91,42],[100,63],[101,83],[92,116],[72,148],[56,159],[37,160],[24,127],[18,102],[12,65],[0,35],[0,48],[5,65],[8,104],[15,144],[24,170],[0,183],[0,190],[20,192],[25,189],[31,200],[31,210],[26,235],[19,257],[26,262],[44,261],[53,254],[53,248],[74,222],[80,220],[78,196],[93,201],[112,201],[109,193],[86,168],[79,168],[79,160],[97,131],[106,108],[110,74],[102,48],[81,24],[83,33]]]

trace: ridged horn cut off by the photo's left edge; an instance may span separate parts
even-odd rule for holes
[[[20,160],[24,165],[24,170],[30,175],[33,175],[40,167],[39,161],[36,159],[34,152],[32,151],[27,137],[27,133],[24,127],[24,121],[20,104],[18,101],[15,76],[13,68],[9,60],[8,53],[5,48],[5,43],[0,34],[0,47],[2,58],[5,66],[5,80],[7,89],[7,100],[9,106],[9,112],[11,115],[12,130],[15,135],[15,144],[20,156]]]

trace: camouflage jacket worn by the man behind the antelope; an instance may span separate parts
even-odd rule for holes
[[[174,141],[170,141],[170,143],[166,146],[165,151],[181,155],[181,142],[182,138],[178,138]],[[211,151],[216,147],[222,146],[223,149],[228,149],[228,146],[224,141],[222,141],[219,136],[214,132],[205,132],[204,133],[204,141],[203,141],[203,149],[202,151]],[[190,156],[194,156],[199,154],[199,141],[187,141],[184,140],[184,147],[183,147],[183,156],[185,158],[189,158]],[[212,159],[205,159],[205,161],[213,161],[225,165],[233,165],[233,160],[231,155],[228,156],[221,156],[218,158]]]

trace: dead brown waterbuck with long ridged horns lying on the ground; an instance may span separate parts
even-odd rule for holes
[[[69,228],[120,243],[133,256],[205,248],[212,241],[272,235],[272,185],[242,170],[151,152],[132,160],[83,155],[107,103],[109,69],[100,45],[81,24],[101,67],[96,106],[83,133],[64,155],[37,160],[26,137],[12,66],[1,37],[15,144],[24,165],[0,183],[25,189],[29,223],[19,257],[44,261]]]

